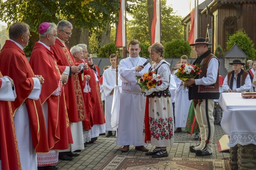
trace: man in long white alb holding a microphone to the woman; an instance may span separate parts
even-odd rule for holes
[[[120,79],[122,93],[120,96],[119,124],[116,144],[124,145],[122,152],[128,152],[129,145],[134,145],[136,150],[147,152],[143,145],[143,122],[145,114],[146,97],[141,94],[141,88],[136,85],[135,73],[143,75],[148,72],[150,64],[143,66],[146,59],[139,57],[140,42],[129,42],[128,58],[120,61]]]

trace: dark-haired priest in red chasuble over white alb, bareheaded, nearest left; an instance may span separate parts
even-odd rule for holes
[[[0,71],[15,82],[18,94],[11,102],[22,169],[37,169],[36,153],[49,152],[47,132],[39,95],[44,78],[34,75],[23,48],[28,45],[29,26],[15,22],[9,28],[0,53]]]

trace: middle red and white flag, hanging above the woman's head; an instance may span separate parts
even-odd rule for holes
[[[160,17],[160,0],[154,0],[154,14],[151,25],[151,45],[157,42],[160,43]]]

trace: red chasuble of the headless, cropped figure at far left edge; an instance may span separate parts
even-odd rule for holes
[[[0,78],[2,78],[0,72]],[[0,88],[2,80],[0,79]],[[0,101],[0,160],[2,169],[22,169],[11,102]]]

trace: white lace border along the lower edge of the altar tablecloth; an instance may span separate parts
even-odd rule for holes
[[[234,147],[238,143],[241,145],[247,145],[247,144],[256,145],[256,132],[248,132],[248,131],[231,132],[228,146]]]

